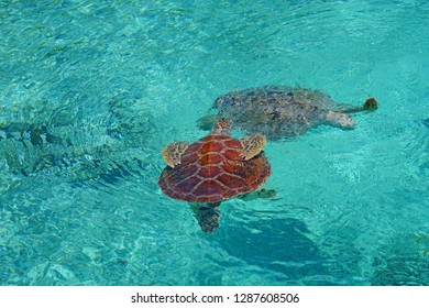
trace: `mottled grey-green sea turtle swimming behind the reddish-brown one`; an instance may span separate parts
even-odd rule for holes
[[[311,89],[289,86],[264,86],[229,92],[216,99],[218,114],[199,120],[207,130],[217,118],[228,117],[234,125],[252,133],[277,140],[304,134],[319,124],[353,129],[352,112],[375,110],[375,98],[366,99],[362,107],[339,103],[328,95]]]

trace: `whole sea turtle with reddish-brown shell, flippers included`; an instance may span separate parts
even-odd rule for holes
[[[231,125],[231,120],[218,119],[207,136],[193,144],[174,142],[162,151],[167,166],[160,176],[161,189],[174,199],[206,204],[195,207],[205,232],[217,229],[220,201],[254,191],[271,173],[262,152],[265,136],[234,139]]]

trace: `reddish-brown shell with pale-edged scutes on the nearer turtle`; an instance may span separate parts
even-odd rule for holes
[[[271,166],[264,153],[245,161],[240,140],[208,135],[188,146],[182,163],[167,166],[160,176],[163,193],[188,202],[218,202],[253,191],[268,177]]]

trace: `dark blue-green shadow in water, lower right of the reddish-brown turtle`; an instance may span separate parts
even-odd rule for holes
[[[277,218],[224,223],[218,232],[218,243],[228,254],[280,274],[279,284],[339,284],[329,273],[327,255],[306,235],[309,230],[302,221]]]

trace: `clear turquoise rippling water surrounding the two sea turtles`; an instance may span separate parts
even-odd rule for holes
[[[113,3],[112,3],[113,2]],[[1,285],[429,285],[427,1],[1,1]],[[201,232],[156,185],[213,100],[380,109],[268,142]],[[240,132],[234,132],[240,135]]]

